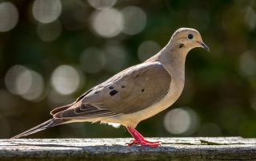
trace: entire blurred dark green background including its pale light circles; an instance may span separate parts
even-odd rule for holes
[[[157,53],[180,27],[210,53],[186,58],[182,96],[138,124],[146,136],[256,136],[255,1],[15,0],[0,2],[0,138]],[[130,137],[104,124],[67,124],[30,138]]]

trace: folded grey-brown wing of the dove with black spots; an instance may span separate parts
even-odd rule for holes
[[[170,74],[158,62],[135,65],[91,88],[55,118],[90,119],[138,112],[157,103],[170,88]]]

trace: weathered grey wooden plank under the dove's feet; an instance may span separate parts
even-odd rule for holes
[[[161,147],[127,147],[130,139],[0,139],[0,160],[256,160],[256,139],[149,138]]]

